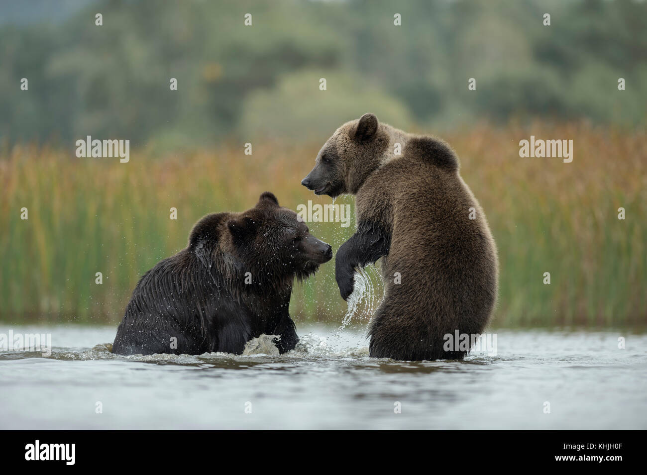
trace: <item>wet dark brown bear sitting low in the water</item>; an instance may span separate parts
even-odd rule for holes
[[[279,352],[292,350],[294,278],[306,279],[332,257],[331,246],[269,192],[243,213],[204,216],[186,249],[139,280],[113,352],[241,354],[261,333],[277,335]]]

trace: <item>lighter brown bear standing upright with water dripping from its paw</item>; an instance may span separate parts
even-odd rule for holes
[[[356,195],[357,230],[335,257],[342,298],[357,268],[382,257],[384,299],[369,323],[372,357],[462,359],[446,335],[483,332],[497,297],[498,259],[483,210],[454,151],[430,136],[345,123],[302,184],[316,195]]]

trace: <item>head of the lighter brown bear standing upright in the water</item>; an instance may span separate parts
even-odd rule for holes
[[[373,114],[345,123],[323,145],[314,168],[301,184],[315,195],[354,195],[382,163],[390,129],[389,125],[378,123]]]

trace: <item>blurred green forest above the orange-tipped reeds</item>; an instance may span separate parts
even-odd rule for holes
[[[405,130],[537,116],[644,123],[644,1],[105,0],[41,17],[51,3],[3,3],[0,138],[10,143],[321,138],[366,111]]]

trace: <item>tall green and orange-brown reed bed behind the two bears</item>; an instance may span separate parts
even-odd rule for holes
[[[520,158],[519,141],[572,139],[573,162]],[[479,125],[443,135],[481,202],[499,249],[494,327],[642,326],[647,321],[647,138],[587,123]],[[0,319],[120,321],[138,278],[186,246],[206,213],[241,211],[272,191],[282,206],[326,204],[300,185],[320,143],[254,143],[160,156],[131,149],[130,161],[77,158],[74,148],[19,145],[0,154]],[[312,223],[337,249],[355,226]],[[433,204],[432,204],[433,206]],[[21,219],[21,208],[28,219]],[[171,207],[177,220],[170,219]],[[623,207],[626,219],[619,220]],[[101,272],[103,283],[96,284]],[[550,272],[551,284],[543,284]],[[351,320],[363,326],[381,298]],[[334,262],[292,297],[297,322],[341,324],[347,306]]]

